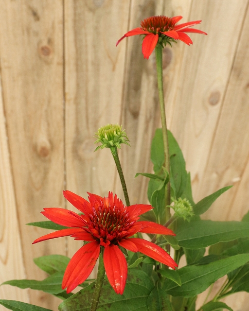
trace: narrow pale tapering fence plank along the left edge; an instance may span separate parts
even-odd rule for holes
[[[0,85],[0,283],[25,278],[1,95]],[[0,287],[0,297],[29,302],[27,290],[9,285]]]

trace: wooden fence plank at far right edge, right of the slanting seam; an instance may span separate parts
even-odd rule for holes
[[[212,219],[240,220],[249,208],[248,31],[249,12],[243,25],[207,169],[200,180],[200,195],[213,192],[223,185],[234,185],[206,213],[206,217]],[[222,213],[219,206],[222,206]]]

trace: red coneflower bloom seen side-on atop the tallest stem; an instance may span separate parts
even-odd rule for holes
[[[145,18],[141,22],[141,27],[128,31],[118,40],[116,46],[125,37],[129,37],[131,35],[145,35],[142,41],[142,53],[144,58],[148,59],[158,42],[162,45],[162,47],[163,44],[166,45],[166,43],[170,43],[170,41],[175,40],[181,40],[190,45],[190,43],[192,44],[193,42],[185,33],[207,35],[207,33],[204,33],[201,30],[189,28],[199,24],[201,20],[189,21],[187,23],[176,25],[181,18],[182,16],[152,16]]]

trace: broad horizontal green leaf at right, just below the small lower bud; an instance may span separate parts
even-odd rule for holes
[[[180,246],[197,249],[249,237],[249,223],[200,220],[182,225],[176,230],[176,234]]]

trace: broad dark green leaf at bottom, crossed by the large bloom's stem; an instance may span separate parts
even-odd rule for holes
[[[125,291],[123,295],[117,295],[107,279],[104,280],[98,311],[148,311],[147,299],[154,288],[151,278],[142,270],[132,269],[128,271]],[[89,311],[91,305],[94,284],[72,295],[59,305],[59,311]]]

